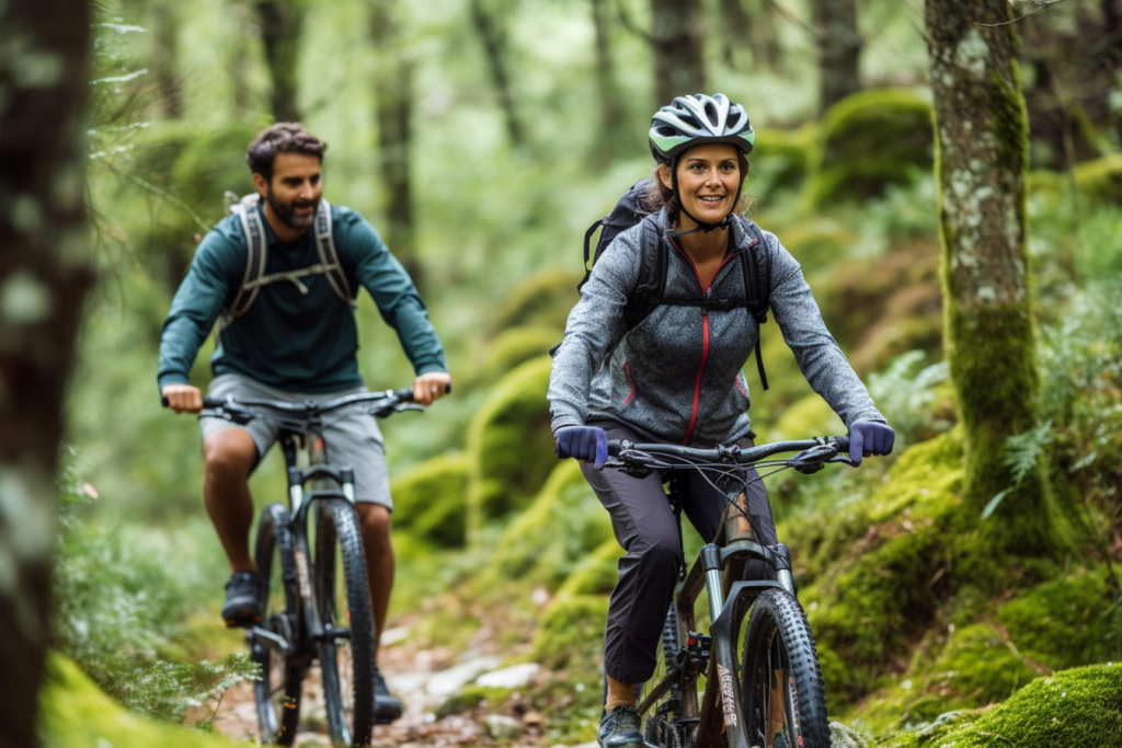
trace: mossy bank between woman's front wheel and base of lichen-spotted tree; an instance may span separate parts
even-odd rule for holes
[[[953,431],[909,449],[882,488],[825,523],[829,530],[791,528],[792,547],[810,556],[798,560],[808,582],[800,600],[833,700],[871,690],[939,604],[938,560],[959,504],[960,438]]]

